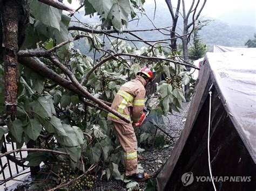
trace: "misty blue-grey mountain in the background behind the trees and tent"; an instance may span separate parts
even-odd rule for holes
[[[171,15],[165,4],[157,5],[155,17],[154,4],[145,4],[144,8],[147,16],[139,15],[139,20],[137,19],[130,22],[130,30],[154,29],[154,26],[160,28],[172,25]],[[250,12],[250,10],[247,11]],[[246,10],[234,10],[220,16],[220,19],[206,17],[200,18],[201,21],[206,19],[211,20],[211,22],[207,26],[204,26],[203,29],[199,31],[199,35],[203,40],[203,43],[207,45],[208,51],[212,51],[213,45],[245,47],[246,41],[249,39],[253,39],[253,34],[256,33],[255,17],[252,16],[253,14],[251,12],[245,12]],[[80,11],[79,14],[76,13],[75,16],[80,21],[84,23],[90,23],[91,25],[96,25],[97,23],[100,23],[98,16],[94,16],[91,18],[89,16],[84,16],[84,11]],[[154,23],[154,26],[152,22]],[[181,22],[183,22],[183,20],[179,19],[177,27],[177,32],[179,34],[181,34],[180,29],[183,28]],[[163,32],[165,34],[169,34],[168,31]],[[136,34],[145,40],[170,38],[169,35],[164,35],[157,31],[136,32]],[[129,36],[129,34],[120,34],[120,37],[126,36],[134,39],[134,37]],[[178,43],[181,43],[181,41],[178,41]],[[147,46],[141,42],[137,42],[135,44],[138,47]],[[79,45],[79,48],[81,49],[80,46],[81,45]]]

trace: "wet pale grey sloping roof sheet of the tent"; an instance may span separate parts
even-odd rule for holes
[[[256,48],[207,53],[206,59],[226,110],[256,163]]]

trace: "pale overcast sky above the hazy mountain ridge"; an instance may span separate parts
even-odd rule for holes
[[[173,7],[176,6],[177,0],[171,0]],[[77,9],[79,6],[78,0],[72,0],[72,8]],[[192,0],[185,0],[186,3],[191,4]],[[200,2],[203,2],[201,0]],[[69,4],[67,0],[64,0],[65,4]],[[165,0],[156,0],[157,9],[168,9]],[[154,0],[146,0],[146,4],[154,4]],[[218,18],[225,12],[235,11],[237,9],[254,8],[256,17],[256,0],[207,0],[205,8],[203,10],[204,16]]]

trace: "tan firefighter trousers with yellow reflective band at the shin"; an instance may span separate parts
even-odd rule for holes
[[[132,124],[113,122],[118,140],[124,150],[125,175],[138,174],[137,139]]]

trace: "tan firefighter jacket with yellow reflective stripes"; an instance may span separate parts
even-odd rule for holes
[[[146,81],[142,76],[136,76],[136,79],[123,84],[114,97],[111,108],[130,119],[130,122],[139,121],[145,105],[145,85]],[[111,113],[109,113],[107,119],[117,123],[128,124]]]

